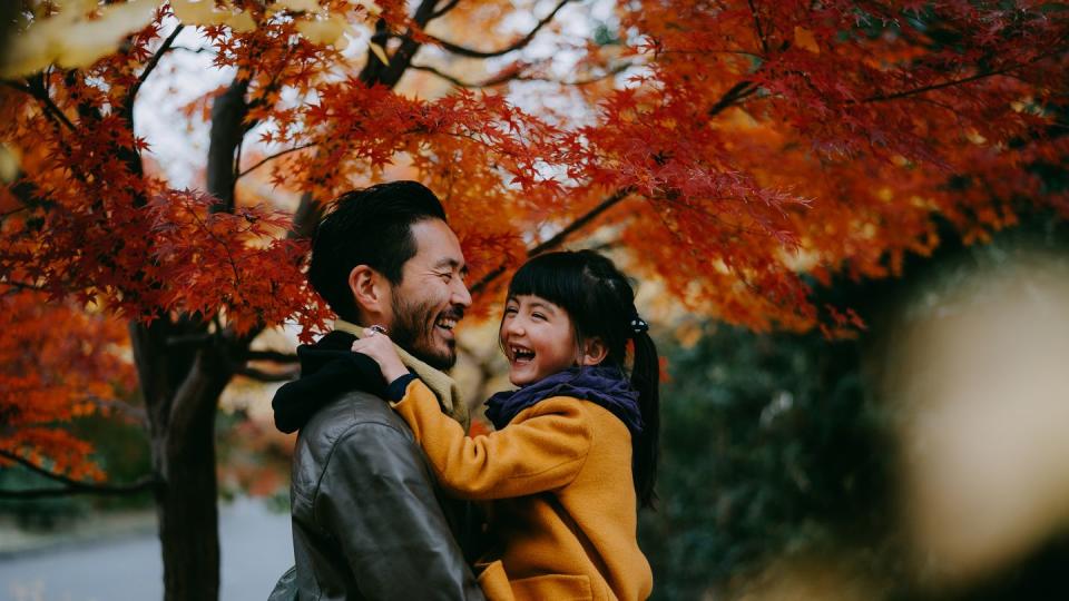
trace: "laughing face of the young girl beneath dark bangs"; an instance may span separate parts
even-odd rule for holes
[[[509,382],[517,386],[567,370],[579,359],[571,318],[539,296],[510,297],[498,335],[509,359]]]

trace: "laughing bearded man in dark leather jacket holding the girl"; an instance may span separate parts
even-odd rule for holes
[[[457,235],[431,190],[395,181],[342,195],[315,235],[308,280],[339,315],[297,349],[301,378],[275,395],[275,423],[300,428],[291,486],[296,565],[274,599],[482,599],[464,539],[405,423],[383,401],[377,365],[351,353],[384,328],[443,411],[467,407],[439,370],[471,305]],[[443,509],[445,504],[445,509]]]

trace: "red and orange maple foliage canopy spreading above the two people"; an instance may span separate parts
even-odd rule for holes
[[[383,178],[443,199],[482,307],[529,253],[592,235],[758,329],[849,319],[808,283],[895,274],[940,243],[936,216],[982,239],[1031,203],[1069,208],[1034,170],[1069,151],[1056,4],[514,4],[24,1],[0,72],[18,164],[0,188],[0,450],[92,475],[32,424],[129,385],[114,319],[322,331],[308,207]],[[135,124],[143,86],[196,77],[161,67],[189,50],[179,33],[233,73],[189,127],[241,101],[241,144],[193,189]],[[30,348],[48,362],[20,362]]]

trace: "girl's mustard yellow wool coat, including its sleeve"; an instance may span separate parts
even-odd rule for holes
[[[442,486],[490,501],[502,549],[479,577],[491,600],[638,600],[653,571],[638,549],[631,436],[608,410],[546,398],[509,426],[468,437],[412,381],[394,410],[412,427]]]

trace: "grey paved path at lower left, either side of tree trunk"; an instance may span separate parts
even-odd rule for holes
[[[264,601],[293,565],[290,516],[263,503],[220,506],[222,601]],[[163,599],[159,540],[140,532],[0,559],[0,600],[155,601]]]

